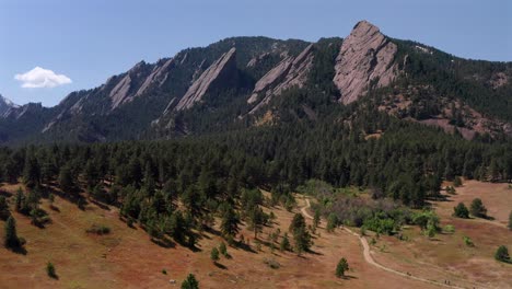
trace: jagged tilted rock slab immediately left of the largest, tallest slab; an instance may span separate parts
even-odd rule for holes
[[[248,104],[256,104],[249,114],[268,104],[274,96],[281,94],[283,90],[292,86],[302,88],[307,80],[312,63],[313,44],[310,44],[298,57],[286,57],[256,82],[253,94],[247,100]]]

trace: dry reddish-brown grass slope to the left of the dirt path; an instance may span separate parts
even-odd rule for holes
[[[4,186],[15,192],[18,186]],[[271,253],[263,246],[261,252],[252,253],[228,247],[231,259],[221,257],[220,268],[210,261],[209,254],[221,239],[205,233],[199,241],[200,252],[176,245],[161,247],[150,241],[140,228],[130,229],[118,219],[115,208],[104,210],[88,205],[84,211],[75,205],[56,197],[59,211],[49,209],[47,200],[42,207],[48,211],[53,223],[46,229],[30,224],[25,216],[14,213],[19,235],[27,240],[26,255],[18,255],[0,248],[0,287],[5,288],[175,288],[188,273],[194,273],[201,288],[432,288],[419,281],[394,276],[366,264],[357,238],[339,230],[326,233],[318,229],[315,236],[315,253],[298,256],[294,253]],[[266,208],[269,210],[269,208]],[[282,232],[293,217],[282,208],[272,208],[278,222],[265,228],[267,234],[276,228]],[[112,229],[107,235],[88,234],[85,230],[94,223]],[[1,223],[3,227],[3,222]],[[253,232],[243,230],[245,238],[255,242]],[[347,279],[334,276],[336,263],[346,257],[352,268]],[[280,268],[272,269],[265,259],[275,259]],[[45,266],[53,262],[58,280],[46,276]],[[162,269],[167,275],[162,274]],[[177,280],[171,285],[170,279]]]

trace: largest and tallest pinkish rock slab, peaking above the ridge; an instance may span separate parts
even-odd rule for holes
[[[334,82],[340,102],[349,104],[364,95],[371,83],[388,85],[397,74],[393,63],[397,46],[379,27],[361,21],[344,41],[336,59]]]

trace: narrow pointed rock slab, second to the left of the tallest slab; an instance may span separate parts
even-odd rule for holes
[[[194,81],[185,95],[179,100],[175,109],[183,111],[190,108],[195,103],[200,102],[202,96],[216,85],[223,82],[235,82],[237,77],[236,49],[231,48],[217,61],[208,67],[201,76]]]

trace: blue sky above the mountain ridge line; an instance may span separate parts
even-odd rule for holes
[[[0,0],[0,93],[19,104],[51,106],[140,60],[186,47],[245,35],[345,37],[363,19],[389,36],[456,56],[512,61],[509,2]]]

